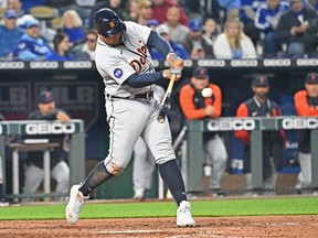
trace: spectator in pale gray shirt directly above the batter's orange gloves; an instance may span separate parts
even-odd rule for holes
[[[174,42],[183,42],[189,34],[189,28],[179,23],[180,8],[170,6],[166,13],[167,22],[165,24],[169,28],[170,37]]]

